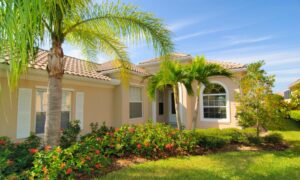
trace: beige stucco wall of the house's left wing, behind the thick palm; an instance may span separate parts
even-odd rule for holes
[[[31,131],[35,132],[35,106],[36,89],[47,88],[46,72],[39,72],[41,75],[23,76],[18,88],[32,89],[31,98]],[[30,73],[29,73],[30,74]],[[116,75],[117,76],[117,75]],[[72,114],[71,119],[75,119],[76,92],[84,93],[84,124],[82,133],[90,131],[90,123],[103,122],[108,126],[118,127],[122,124],[145,123],[151,114],[150,101],[146,95],[146,81],[141,83],[142,77],[129,76],[129,85],[139,86],[143,89],[143,117],[129,118],[129,92],[128,84],[107,85],[93,82],[64,79],[63,89],[72,92]],[[11,92],[7,86],[5,73],[0,73],[2,86],[0,98],[0,136],[9,136],[16,140],[17,113],[18,113],[18,89]]]

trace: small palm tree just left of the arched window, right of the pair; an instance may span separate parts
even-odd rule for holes
[[[209,86],[209,77],[225,76],[230,78],[232,77],[232,73],[218,64],[208,63],[204,57],[196,56],[192,64],[189,65],[188,74],[190,75],[191,79],[197,81],[196,102],[192,121],[192,129],[195,129],[199,114],[199,99],[201,85]]]

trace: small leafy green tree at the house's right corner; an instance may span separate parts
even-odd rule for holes
[[[245,76],[241,79],[241,93],[237,94],[237,117],[243,127],[256,127],[257,137],[261,128],[274,123],[269,98],[272,96],[274,76],[267,75],[261,69],[263,61],[249,64]],[[274,107],[273,107],[274,108]]]

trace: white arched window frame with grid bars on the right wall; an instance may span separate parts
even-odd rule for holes
[[[230,103],[229,103],[229,91],[228,88],[225,84],[223,84],[220,81],[210,81],[211,84],[218,84],[222,86],[225,89],[225,93],[214,93],[214,94],[204,94],[205,86],[202,85],[201,87],[201,93],[200,93],[200,114],[201,118],[200,121],[206,121],[206,122],[220,122],[220,123],[230,123]],[[225,101],[226,101],[226,106],[204,106],[204,96],[217,96],[217,95],[225,95]],[[205,107],[225,107],[226,109],[226,118],[205,118],[204,117],[204,108]]]

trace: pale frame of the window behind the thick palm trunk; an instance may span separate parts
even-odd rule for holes
[[[45,132],[44,133],[36,133],[36,121],[37,121],[37,119],[36,119],[36,113],[37,112],[39,112],[39,111],[37,111],[37,109],[36,109],[36,99],[37,99],[37,92],[38,92],[38,90],[43,90],[43,91],[46,91],[47,92],[47,87],[46,86],[36,86],[36,88],[35,88],[35,94],[34,94],[34,132],[35,132],[35,134],[37,135],[37,136],[40,136],[40,137],[42,137],[42,136],[44,136],[44,134],[45,134]],[[72,116],[73,116],[73,112],[74,112],[74,109],[73,109],[73,92],[75,91],[74,89],[70,89],[70,88],[62,88],[62,91],[68,91],[68,92],[70,92],[71,93],[71,110],[70,110],[70,121],[72,120]],[[45,112],[46,112],[46,110],[45,110]]]

